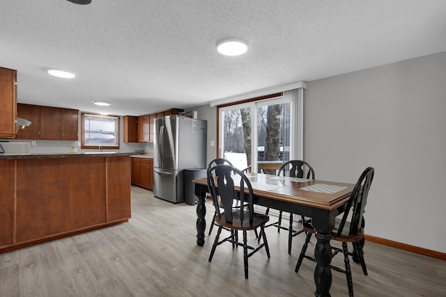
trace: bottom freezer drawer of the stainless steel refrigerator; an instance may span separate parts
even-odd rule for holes
[[[181,177],[178,170],[153,168],[153,195],[157,198],[178,203],[184,202],[183,172]]]

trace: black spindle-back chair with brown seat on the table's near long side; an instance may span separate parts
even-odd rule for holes
[[[238,186],[238,190],[236,190]],[[228,165],[217,165],[208,170],[208,191],[213,199],[215,206],[215,222],[218,225],[217,235],[210,251],[209,262],[215,253],[215,248],[220,244],[228,241],[232,243],[233,248],[243,246],[243,262],[245,266],[245,278],[248,278],[248,258],[254,253],[265,248],[266,255],[270,257],[268,241],[266,240],[265,224],[270,219],[265,214],[254,212],[254,201],[252,193],[252,185],[245,174]],[[220,201],[218,200],[220,196]],[[241,205],[247,207],[233,207],[234,200],[240,200]],[[222,209],[218,206],[222,203]],[[256,230],[260,227],[263,243],[256,248],[247,244],[247,231]],[[220,234],[223,228],[231,230],[231,234],[220,240]],[[243,231],[243,242],[238,241],[236,232]]]

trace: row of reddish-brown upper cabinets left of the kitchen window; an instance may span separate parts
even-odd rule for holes
[[[17,115],[31,121],[31,126],[17,133],[17,139],[46,141],[77,141],[79,139],[79,111],[76,109],[17,104]]]

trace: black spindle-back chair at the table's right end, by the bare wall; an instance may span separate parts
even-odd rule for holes
[[[351,278],[350,261],[348,259],[349,255],[359,259],[362,266],[362,272],[364,275],[367,275],[367,267],[364,261],[364,252],[362,251],[361,241],[364,239],[364,209],[365,205],[367,204],[367,195],[369,195],[370,185],[374,179],[374,172],[374,168],[371,167],[362,172],[362,175],[357,180],[357,183],[353,188],[342,218],[337,218],[335,220],[334,230],[331,232],[332,240],[340,241],[342,243],[342,248],[332,247],[332,250],[334,250],[332,257],[337,255],[338,252],[342,252],[344,254],[345,269],[332,265],[330,265],[330,268],[346,275],[348,294],[350,296],[353,296],[353,280]],[[347,219],[350,214],[352,214],[351,221],[348,222]],[[314,227],[309,222],[306,222],[303,225],[302,230],[307,232],[307,237],[302,246],[298,263],[295,266],[295,272],[299,271],[300,265],[302,264],[302,260],[304,258],[316,262],[314,257],[305,255],[308,243],[312,237],[312,234],[316,233],[316,230],[314,230]],[[348,251],[347,243],[349,242],[353,244],[353,252]]]

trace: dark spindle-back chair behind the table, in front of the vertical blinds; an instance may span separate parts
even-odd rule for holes
[[[280,166],[277,175],[287,176],[287,177],[300,177],[306,179],[315,179],[314,170],[309,163],[301,160],[291,160],[287,161]],[[266,209],[266,214],[269,214],[270,208]],[[305,217],[301,216],[302,223],[305,222]],[[289,227],[282,226],[282,211],[279,211],[279,220],[266,227],[274,226],[277,227],[277,232],[280,230],[286,230],[288,232],[288,254],[291,255],[291,246],[293,243],[293,237],[304,232],[303,230],[293,230],[293,214],[289,216]]]

